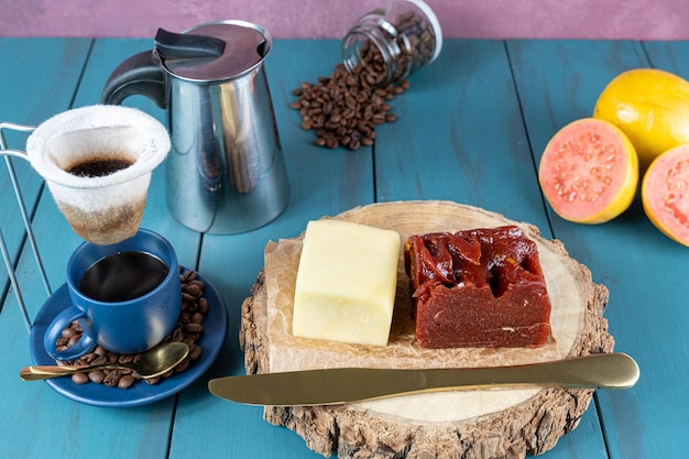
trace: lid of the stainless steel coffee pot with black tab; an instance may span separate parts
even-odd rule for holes
[[[155,54],[174,77],[198,83],[241,77],[267,56],[272,39],[263,28],[244,21],[196,25],[181,34],[158,30]]]

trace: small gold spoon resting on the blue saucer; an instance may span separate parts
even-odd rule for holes
[[[41,381],[75,373],[96,370],[131,370],[141,379],[147,380],[167,373],[182,362],[189,353],[184,342],[164,342],[143,352],[139,360],[131,363],[107,363],[102,365],[30,365],[23,368],[19,375],[24,381]]]

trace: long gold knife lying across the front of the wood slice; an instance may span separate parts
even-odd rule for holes
[[[553,362],[463,369],[336,368],[217,378],[209,391],[249,405],[336,405],[423,392],[485,387],[630,389],[639,378],[622,352]]]

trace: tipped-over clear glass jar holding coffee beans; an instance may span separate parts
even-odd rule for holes
[[[431,63],[442,47],[435,13],[422,0],[390,0],[364,14],[342,40],[342,63],[370,87],[407,78]]]

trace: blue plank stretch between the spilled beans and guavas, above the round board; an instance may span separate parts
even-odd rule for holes
[[[503,42],[446,41],[409,81],[378,130],[378,200],[455,200],[548,236]]]

